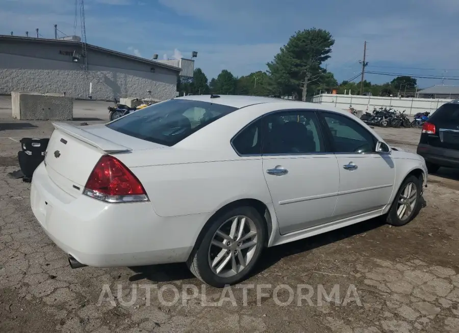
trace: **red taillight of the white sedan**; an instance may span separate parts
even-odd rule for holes
[[[100,157],[86,182],[83,194],[110,203],[148,201],[145,189],[117,158]]]

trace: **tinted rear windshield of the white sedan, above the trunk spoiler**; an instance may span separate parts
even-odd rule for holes
[[[173,146],[237,107],[171,99],[140,109],[106,126],[142,140]]]

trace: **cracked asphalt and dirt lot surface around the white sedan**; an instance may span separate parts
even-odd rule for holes
[[[107,120],[107,105],[75,103],[76,123]],[[31,212],[30,185],[6,175],[18,169],[19,138],[52,126],[12,120],[8,107],[0,100],[2,332],[459,331],[455,171],[430,176],[409,225],[369,220],[267,249],[239,288],[203,286],[183,264],[72,270]],[[376,130],[416,149],[419,129]]]

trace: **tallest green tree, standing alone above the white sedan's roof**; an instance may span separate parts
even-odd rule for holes
[[[274,60],[267,64],[269,73],[276,82],[276,91],[280,94],[299,95],[306,100],[310,86],[317,82],[320,86],[325,81],[325,69],[322,63],[330,58],[331,46],[335,40],[322,29],[297,31],[288,43],[281,47]]]

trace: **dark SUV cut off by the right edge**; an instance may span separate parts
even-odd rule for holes
[[[417,153],[429,172],[459,168],[459,100],[443,104],[424,123]]]

